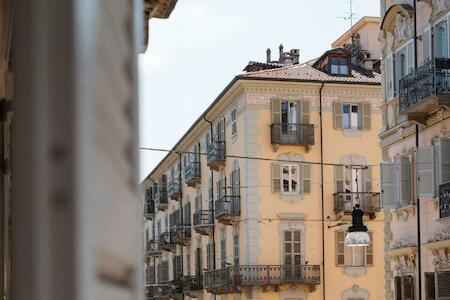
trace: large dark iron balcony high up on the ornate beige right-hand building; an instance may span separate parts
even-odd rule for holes
[[[426,123],[428,114],[450,106],[450,59],[435,58],[400,79],[399,110]]]

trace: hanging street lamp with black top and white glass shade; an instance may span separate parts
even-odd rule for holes
[[[367,227],[363,223],[364,212],[359,208],[359,204],[355,204],[352,210],[352,226],[348,228],[345,235],[345,246],[369,246],[370,237],[367,233]]]

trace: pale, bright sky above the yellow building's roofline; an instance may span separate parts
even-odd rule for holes
[[[379,16],[379,0],[353,0],[354,23]],[[168,19],[150,20],[140,54],[140,147],[171,149],[246,64],[300,49],[320,56],[350,28],[349,0],[178,0]],[[165,156],[140,150],[143,179]]]

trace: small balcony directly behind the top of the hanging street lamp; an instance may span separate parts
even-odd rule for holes
[[[355,204],[359,204],[364,214],[372,218],[380,211],[380,193],[372,192],[341,192],[335,193],[334,213],[351,215]]]

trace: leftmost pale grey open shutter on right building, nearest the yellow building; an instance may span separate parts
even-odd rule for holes
[[[397,202],[396,166],[393,162],[383,162],[381,169],[381,203],[383,208],[394,208]]]

